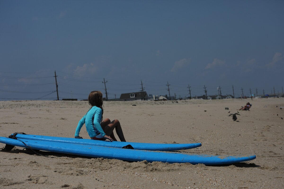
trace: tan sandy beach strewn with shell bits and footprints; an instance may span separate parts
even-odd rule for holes
[[[251,110],[239,111],[233,121],[228,115],[248,101]],[[43,157],[15,147],[0,151],[0,188],[284,188],[284,108],[280,107],[283,98],[104,102],[103,117],[120,120],[126,141],[202,143],[177,153],[255,154],[256,159],[206,166],[40,151],[49,156]],[[0,101],[0,135],[74,137],[88,108],[87,101]],[[80,136],[89,139],[85,126]],[[1,149],[4,146],[0,143]]]

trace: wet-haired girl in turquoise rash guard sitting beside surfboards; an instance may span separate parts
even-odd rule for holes
[[[93,140],[103,141],[109,139],[110,141],[117,141],[113,134],[115,128],[120,141],[126,142],[118,120],[113,120],[112,122],[108,118],[103,120],[103,94],[100,91],[92,91],[88,100],[91,107],[79,121],[75,131],[75,138],[82,139],[79,136],[79,132],[85,123],[87,132]]]

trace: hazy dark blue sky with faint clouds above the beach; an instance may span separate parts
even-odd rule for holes
[[[284,1],[0,1],[0,100],[282,93]],[[72,91],[72,92],[71,92]],[[52,94],[50,94],[52,93]],[[104,95],[105,96],[105,95]]]

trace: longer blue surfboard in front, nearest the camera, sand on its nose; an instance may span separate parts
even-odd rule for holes
[[[143,161],[147,162],[164,162],[164,163],[203,163],[205,165],[217,165],[227,163],[237,163],[250,161],[256,158],[255,155],[250,156],[212,156],[212,155],[188,155],[181,153],[153,152],[147,150],[131,150],[124,148],[112,148],[105,146],[80,145],[71,143],[59,143],[39,140],[27,139],[11,139],[0,137],[0,143],[20,146],[26,148],[28,145],[32,149],[44,150],[49,152],[57,152],[64,154],[72,154],[78,156],[88,156],[93,158],[118,159],[124,161]],[[25,144],[26,145],[25,145]]]

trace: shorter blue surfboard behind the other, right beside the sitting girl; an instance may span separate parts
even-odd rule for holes
[[[99,140],[91,140],[91,139],[75,139],[75,138],[66,138],[66,137],[50,137],[50,136],[43,136],[43,135],[24,135],[24,134],[17,134],[16,138],[50,141],[50,142],[60,142],[60,143],[107,146],[107,147],[114,147],[114,148],[122,148],[123,146],[131,145],[136,150],[153,150],[153,151],[175,151],[175,150],[197,148],[201,146],[201,143],[154,144],[154,143],[118,142],[118,141],[111,142],[111,141],[99,141]]]

